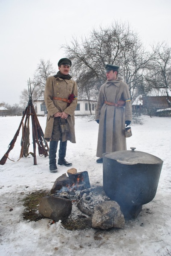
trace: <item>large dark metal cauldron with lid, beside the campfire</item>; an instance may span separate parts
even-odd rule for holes
[[[163,161],[131,149],[103,154],[103,188],[120,205],[142,206],[156,195]]]

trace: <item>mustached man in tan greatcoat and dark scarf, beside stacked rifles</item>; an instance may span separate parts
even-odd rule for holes
[[[44,91],[44,101],[47,108],[47,121],[44,139],[49,143],[49,169],[57,172],[56,152],[60,141],[58,164],[71,166],[65,160],[67,140],[75,141],[75,117],[74,111],[77,106],[77,84],[69,75],[71,61],[62,58],[58,61],[58,73],[49,76]],[[70,131],[61,132],[61,123],[68,122]]]

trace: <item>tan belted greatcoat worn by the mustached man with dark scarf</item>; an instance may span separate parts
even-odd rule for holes
[[[68,99],[69,95],[73,94],[75,99],[70,103],[69,106],[67,102],[59,101],[53,99],[53,97],[60,97]],[[77,106],[77,84],[72,79],[61,79],[59,77],[49,76],[46,81],[45,91],[44,91],[44,101],[47,108],[47,120],[46,128],[44,133],[44,139],[50,141],[52,138],[53,124],[54,124],[54,114],[57,112],[65,112],[69,114],[67,121],[70,125],[70,131],[63,133],[62,138],[58,138],[62,141],[70,140],[72,143],[75,141],[75,118],[74,111]],[[63,119],[65,120],[65,119]]]

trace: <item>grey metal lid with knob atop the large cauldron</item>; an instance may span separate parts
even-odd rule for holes
[[[155,157],[152,154],[148,154],[142,151],[123,150],[115,151],[111,153],[104,153],[103,157],[107,157],[116,160],[118,163],[126,165],[134,165],[138,163],[142,164],[161,164],[163,161],[159,157]]]

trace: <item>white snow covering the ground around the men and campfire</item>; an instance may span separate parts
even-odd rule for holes
[[[46,117],[38,117],[42,129]],[[20,124],[21,116],[0,117],[0,158]],[[76,144],[68,142],[67,157],[78,172],[88,171],[91,186],[102,186],[102,163],[96,163],[98,124],[84,117],[75,118]],[[21,133],[21,132],[20,132]],[[37,222],[22,218],[22,199],[29,192],[50,190],[56,178],[69,168],[58,166],[49,172],[49,160],[33,157],[19,161],[20,136],[0,166],[0,255],[1,256],[163,256],[171,255],[171,117],[143,116],[143,125],[132,125],[133,136],[127,149],[136,147],[161,158],[164,163],[155,198],[143,205],[136,219],[125,220],[123,229],[64,229],[61,221],[50,225],[44,218]],[[32,151],[32,143],[29,148]],[[10,209],[13,209],[10,211]]]

